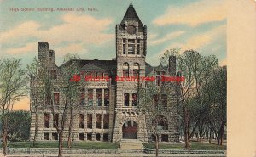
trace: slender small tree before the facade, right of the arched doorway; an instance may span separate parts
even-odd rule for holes
[[[160,123],[168,124],[168,118],[163,116],[167,111],[170,101],[166,101],[166,95],[175,91],[176,83],[161,82],[157,86],[153,81],[145,81],[144,86],[138,89],[138,107],[146,115],[149,132],[155,137],[155,155],[159,155]]]

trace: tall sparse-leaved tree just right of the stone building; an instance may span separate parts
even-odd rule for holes
[[[177,86],[177,93],[183,117],[185,149],[190,149],[189,139],[193,137],[195,130],[206,122],[205,112],[209,107],[206,105],[207,100],[202,88],[209,83],[212,70],[218,67],[218,59],[215,56],[201,56],[194,50],[181,53],[177,49],[171,49],[163,55],[161,63],[167,65],[167,59],[171,55],[177,56],[178,75],[185,78],[185,81]],[[202,131],[202,128],[200,130]]]

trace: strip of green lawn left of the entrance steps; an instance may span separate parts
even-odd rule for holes
[[[67,142],[64,142],[64,148],[67,148]],[[8,147],[11,148],[33,148],[32,142],[9,142]],[[57,148],[58,142],[36,142],[34,148]],[[74,149],[118,149],[118,143],[104,143],[104,142],[73,142]]]

